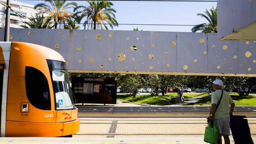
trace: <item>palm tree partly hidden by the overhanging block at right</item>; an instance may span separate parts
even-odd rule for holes
[[[211,12],[211,13],[210,13]],[[204,17],[207,19],[209,22],[203,23],[203,24],[198,24],[194,26],[191,31],[196,32],[196,31],[201,31],[203,33],[217,33],[217,7],[214,8],[212,6],[212,9],[210,8],[210,12],[205,9],[204,13],[198,13],[197,15],[200,15],[201,17]]]

